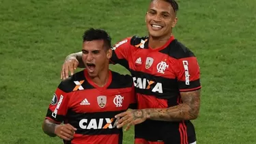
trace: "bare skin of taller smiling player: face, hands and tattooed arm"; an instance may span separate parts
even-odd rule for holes
[[[162,0],[154,0],[145,15],[145,22],[149,32],[150,48],[163,46],[171,37],[172,29],[177,23],[176,12],[169,3]],[[156,29],[152,25],[159,25],[161,29]],[[81,53],[70,54],[66,62],[63,63],[62,78],[68,76],[68,71],[74,72],[74,67],[81,63]],[[135,124],[141,124],[146,119],[158,121],[182,121],[196,119],[199,115],[200,90],[181,92],[182,104],[171,106],[167,109],[139,109],[126,111],[116,115],[119,118],[117,128],[127,125],[125,130]]]

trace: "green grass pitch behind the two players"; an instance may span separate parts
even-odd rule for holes
[[[256,10],[254,0],[180,1],[175,38],[201,67],[197,143],[256,143]],[[42,132],[66,55],[81,50],[89,27],[113,43],[146,35],[145,0],[0,0],[0,143],[61,143]],[[121,73],[120,66],[111,66]],[[133,132],[124,132],[124,144]]]

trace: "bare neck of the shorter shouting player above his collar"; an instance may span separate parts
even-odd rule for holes
[[[95,76],[91,78],[91,80],[98,85],[98,87],[104,87],[106,83],[109,80],[109,68],[104,68],[102,71],[98,74],[98,76]]]

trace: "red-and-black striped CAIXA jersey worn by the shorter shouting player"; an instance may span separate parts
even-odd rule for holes
[[[98,87],[87,70],[62,81],[49,105],[46,119],[76,128],[74,139],[65,144],[122,144],[122,128],[116,128],[115,115],[135,104],[132,77],[109,71],[109,80]]]

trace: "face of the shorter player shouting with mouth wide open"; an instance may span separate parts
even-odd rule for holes
[[[98,76],[104,69],[109,69],[111,49],[104,48],[104,40],[93,40],[83,42],[83,63],[91,77]]]

